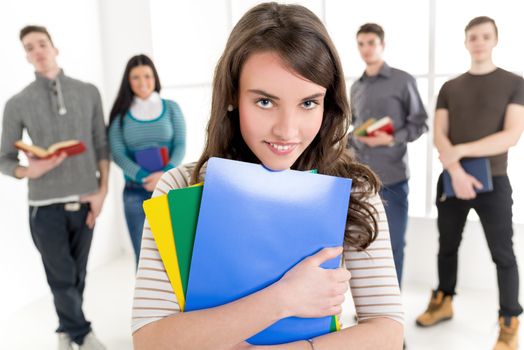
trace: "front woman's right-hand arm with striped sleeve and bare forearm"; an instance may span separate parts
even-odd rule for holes
[[[386,213],[378,195],[368,201],[377,210],[377,237],[364,251],[352,247],[344,249],[344,263],[352,276],[350,288],[358,324],[315,339],[315,348],[402,348],[404,310]]]

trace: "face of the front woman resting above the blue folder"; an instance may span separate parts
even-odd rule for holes
[[[326,88],[291,71],[273,52],[251,55],[239,85],[244,141],[269,169],[291,168],[320,130]]]

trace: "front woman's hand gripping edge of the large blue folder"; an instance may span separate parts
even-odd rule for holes
[[[351,273],[345,268],[320,267],[341,253],[342,247],[324,248],[302,260],[276,283],[286,317],[324,317],[341,313]]]

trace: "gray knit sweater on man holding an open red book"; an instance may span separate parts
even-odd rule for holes
[[[63,72],[55,80],[36,74],[34,82],[7,101],[2,123],[0,172],[14,176],[19,165],[14,143],[24,129],[33,144],[47,148],[76,139],[87,151],[66,158],[42,177],[29,180],[29,200],[39,201],[83,195],[98,189],[97,163],[108,159],[108,146],[98,89],[69,78]],[[59,112],[59,106],[65,110]]]

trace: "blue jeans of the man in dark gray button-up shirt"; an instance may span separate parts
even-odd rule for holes
[[[388,218],[389,235],[393,259],[397,270],[398,285],[402,282],[404,266],[404,247],[406,246],[406,228],[408,224],[408,180],[392,185],[384,185],[380,190],[380,197],[384,201],[386,217]]]

